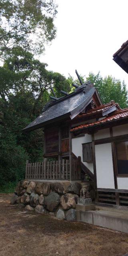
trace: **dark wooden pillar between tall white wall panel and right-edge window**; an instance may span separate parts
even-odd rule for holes
[[[113,137],[113,130],[112,127],[110,128],[110,137]],[[114,186],[115,189],[118,189],[118,184],[117,184],[117,170],[116,170],[116,152],[115,152],[115,144],[114,142],[111,142],[111,148],[112,148],[112,162],[113,162],[113,174],[114,174]],[[120,205],[120,199],[119,199],[119,194],[115,193],[116,196],[116,204]]]

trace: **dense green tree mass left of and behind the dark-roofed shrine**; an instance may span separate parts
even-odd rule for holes
[[[17,54],[17,55],[16,55]],[[11,54],[0,67],[0,185],[16,182],[25,175],[26,160],[42,161],[42,129],[23,134],[49,101],[54,88],[70,92],[70,80],[46,69],[27,52]],[[5,78],[5,79],[4,79]]]

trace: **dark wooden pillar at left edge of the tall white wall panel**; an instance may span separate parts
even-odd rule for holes
[[[98,194],[97,194],[97,176],[96,176],[96,156],[95,156],[94,134],[92,134],[92,158],[93,158],[93,170],[94,170],[95,200],[97,201]]]

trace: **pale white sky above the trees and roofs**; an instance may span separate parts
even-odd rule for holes
[[[68,77],[89,72],[125,81],[128,74],[112,60],[128,40],[128,0],[56,0],[56,38],[40,61]]]

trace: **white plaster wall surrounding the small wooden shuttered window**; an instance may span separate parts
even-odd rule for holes
[[[83,154],[82,154],[82,143],[92,142],[92,136],[89,134],[85,134],[85,136],[73,138],[72,139],[72,152],[78,157],[81,156],[81,162],[83,162]],[[93,163],[83,162],[88,169],[94,173],[93,171]]]

